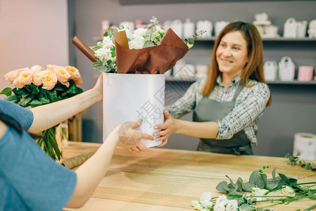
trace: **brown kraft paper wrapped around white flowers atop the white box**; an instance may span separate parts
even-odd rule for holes
[[[129,49],[125,31],[115,34],[115,53],[118,73],[163,74],[182,58],[189,48],[171,29],[158,46]]]

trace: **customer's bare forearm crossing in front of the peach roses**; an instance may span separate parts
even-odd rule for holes
[[[28,132],[37,133],[42,132],[44,129],[49,129],[63,122],[63,120],[67,120],[69,117],[80,113],[80,111],[89,108],[94,103],[101,102],[102,98],[102,75],[100,75],[94,88],[84,91],[82,94],[63,101],[32,108],[31,111],[34,120]]]

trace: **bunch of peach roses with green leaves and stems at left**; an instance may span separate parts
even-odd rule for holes
[[[47,65],[46,70],[39,65],[32,68],[13,70],[4,75],[14,89],[6,87],[0,94],[6,100],[25,108],[34,108],[48,103],[61,101],[82,93],[79,86],[82,77],[77,68],[72,66]],[[37,139],[39,146],[53,160],[61,160],[61,151],[56,142],[56,127],[41,132],[42,138]]]

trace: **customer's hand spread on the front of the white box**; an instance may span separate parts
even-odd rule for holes
[[[143,120],[137,120],[129,124],[122,124],[118,128],[118,146],[125,148],[130,153],[148,151],[148,148],[141,143],[141,139],[153,140],[153,136],[137,131]]]

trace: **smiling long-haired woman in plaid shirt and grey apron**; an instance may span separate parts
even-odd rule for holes
[[[217,36],[208,77],[164,111],[156,125],[161,146],[172,133],[201,138],[198,151],[253,154],[258,120],[270,106],[270,89],[263,75],[263,44],[251,23],[229,23]],[[168,113],[168,111],[169,113]],[[194,122],[175,120],[194,112]]]

